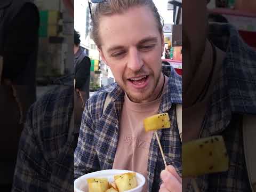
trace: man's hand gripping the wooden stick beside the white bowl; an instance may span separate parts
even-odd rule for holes
[[[161,172],[161,179],[163,183],[160,186],[159,192],[182,191],[182,179],[173,166],[168,165],[165,167],[165,170]]]

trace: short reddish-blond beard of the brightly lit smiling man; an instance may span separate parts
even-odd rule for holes
[[[154,91],[156,90],[156,87],[159,83],[159,79],[160,79],[160,76],[161,76],[161,71],[162,71],[162,68],[161,70],[158,72],[157,74],[157,77],[156,77],[156,81],[154,81],[154,86],[152,88],[152,90],[150,90],[150,92],[147,92],[148,90],[141,90],[139,91],[139,93],[137,92],[136,94],[132,93],[132,91],[129,91],[127,88],[126,88],[126,85],[119,85],[122,90],[124,90],[124,92],[127,94],[128,98],[132,101],[132,102],[135,102],[135,103],[141,103],[142,101],[145,101],[145,100],[148,100],[150,97],[152,97],[152,95],[154,94]],[[142,71],[139,71],[138,73],[135,73],[134,76],[138,76],[140,74],[145,74],[143,73]],[[156,74],[155,74],[156,75]],[[154,76],[154,73],[153,71],[150,71],[150,75],[149,77],[155,77]],[[148,77],[148,78],[149,78]],[[125,79],[125,77],[123,77],[123,82],[126,82],[127,80]],[[151,89],[151,86],[150,86],[150,89]],[[138,96],[139,95],[139,96]]]

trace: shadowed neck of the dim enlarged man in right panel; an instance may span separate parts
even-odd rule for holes
[[[197,101],[203,89],[205,89],[205,83],[213,71],[213,76],[215,76],[217,69],[222,65],[223,59],[225,58],[225,53],[216,47],[216,63],[213,69],[213,49],[211,43],[206,41],[205,52],[202,56],[202,60],[199,65],[188,65],[187,71],[195,71],[194,75],[190,74],[189,78],[183,78],[185,86],[185,91],[183,93],[182,105],[186,107],[191,107]],[[195,63],[194,63],[195,64]],[[210,79],[212,82],[212,79]],[[211,83],[210,83],[211,84]],[[210,88],[209,88],[210,90]],[[207,93],[206,93],[207,94]]]

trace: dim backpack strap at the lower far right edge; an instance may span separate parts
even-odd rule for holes
[[[243,140],[244,140],[244,156],[247,168],[247,174],[253,192],[256,192],[256,118],[252,115],[244,115],[243,117]]]

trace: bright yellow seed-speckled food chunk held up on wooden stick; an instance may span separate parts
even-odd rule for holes
[[[144,128],[148,131],[156,131],[159,129],[166,129],[171,127],[171,120],[167,113],[153,115],[144,119]]]

